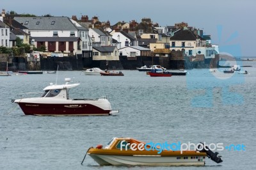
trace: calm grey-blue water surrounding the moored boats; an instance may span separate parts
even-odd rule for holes
[[[148,77],[124,70],[124,77],[59,72],[58,84],[71,77],[81,85],[72,98],[107,95],[117,116],[24,116],[11,99],[42,91],[56,75],[0,77],[0,169],[256,169],[256,62],[250,74],[227,77],[208,69],[187,76]],[[243,68],[244,69],[244,68]],[[225,77],[226,76],[226,77]],[[246,151],[219,151],[223,162],[206,159],[205,167],[100,167],[84,153],[112,137],[155,143],[244,144]]]

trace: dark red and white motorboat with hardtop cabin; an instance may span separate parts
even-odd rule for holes
[[[14,102],[19,104],[26,115],[36,116],[91,116],[109,115],[111,104],[106,97],[99,99],[71,99],[68,97],[70,88],[79,84],[68,84],[70,78],[65,79],[65,84],[52,84],[44,88],[42,97],[20,98]]]

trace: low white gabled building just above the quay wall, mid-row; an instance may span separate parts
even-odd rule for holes
[[[127,46],[119,49],[120,56],[127,58],[136,58],[136,56],[150,56],[150,49],[140,46]]]

